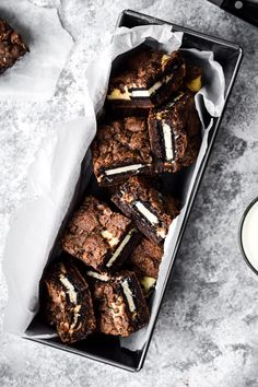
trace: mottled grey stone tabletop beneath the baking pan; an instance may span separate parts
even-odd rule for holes
[[[31,0],[56,4],[77,40],[46,103],[1,102],[0,255],[26,173],[55,122],[82,113],[81,79],[122,9],[134,9],[238,43],[244,61],[164,297],[143,371],[113,368],[2,332],[7,286],[0,272],[1,386],[257,386],[258,278],[243,261],[237,227],[258,194],[258,31],[204,0]],[[21,16],[22,17],[22,16]],[[19,257],[17,257],[19,259]]]

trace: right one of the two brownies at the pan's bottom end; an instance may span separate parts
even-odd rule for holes
[[[97,329],[105,335],[128,337],[149,322],[149,309],[133,272],[124,271],[110,281],[96,281],[93,297]]]

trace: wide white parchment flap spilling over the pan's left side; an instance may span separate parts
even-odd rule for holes
[[[57,126],[38,150],[27,177],[27,201],[11,221],[3,257],[9,301],[4,329],[22,335],[38,307],[38,283],[71,202],[96,121],[85,95],[84,117]]]

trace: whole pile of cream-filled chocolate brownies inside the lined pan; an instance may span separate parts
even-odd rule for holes
[[[64,253],[42,279],[42,314],[63,342],[93,331],[128,337],[149,322],[164,241],[180,212],[160,176],[197,157],[200,87],[200,69],[179,51],[137,49],[112,73],[92,143],[99,195],[73,213]]]

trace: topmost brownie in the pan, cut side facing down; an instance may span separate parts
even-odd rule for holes
[[[144,49],[132,54],[121,66],[122,71],[110,78],[108,104],[125,114],[132,109],[148,114],[177,91],[185,77],[185,61],[179,51],[164,54]],[[137,113],[136,113],[137,114]]]

